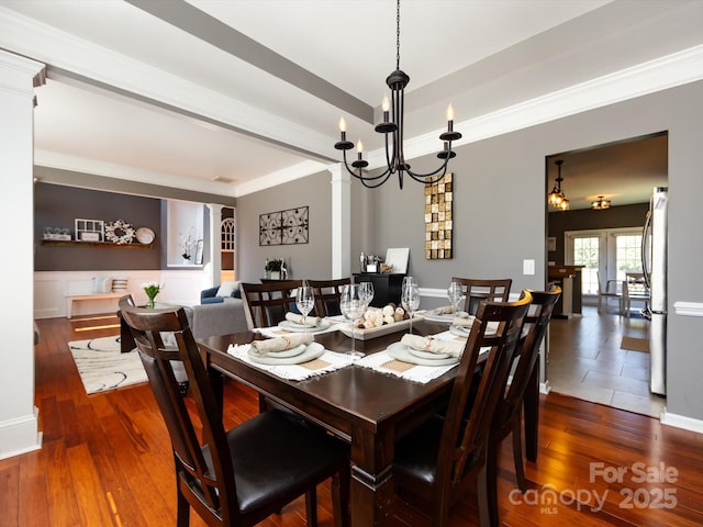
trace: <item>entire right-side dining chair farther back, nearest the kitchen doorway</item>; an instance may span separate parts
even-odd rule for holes
[[[525,469],[523,461],[522,410],[525,391],[535,368],[539,368],[539,348],[551,321],[555,305],[561,295],[561,288],[549,291],[529,291],[532,303],[523,321],[523,334],[527,335],[515,347],[510,386],[499,397],[491,423],[487,453],[487,480],[489,497],[489,525],[500,525],[498,512],[498,456],[503,439],[513,434],[513,462],[517,487],[525,492]]]

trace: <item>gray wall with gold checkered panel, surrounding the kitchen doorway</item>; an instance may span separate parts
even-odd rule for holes
[[[513,290],[546,282],[545,157],[645,134],[669,132],[669,324],[668,411],[703,419],[703,318],[673,313],[677,301],[703,302],[701,190],[703,189],[703,82],[620,102],[539,126],[458,148],[455,172],[455,253],[453,260],[423,256],[422,184],[395,182],[364,190],[368,214],[354,217],[352,255],[384,254],[410,247],[410,271],[421,287],[443,288],[451,274],[511,277]],[[414,168],[436,158],[414,159]],[[355,199],[359,199],[354,182]],[[370,220],[369,220],[370,218]],[[522,274],[522,260],[536,260],[536,276]],[[354,262],[353,262],[354,265]]]

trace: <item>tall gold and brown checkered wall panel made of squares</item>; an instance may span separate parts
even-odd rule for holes
[[[425,183],[425,259],[453,258],[454,175]]]

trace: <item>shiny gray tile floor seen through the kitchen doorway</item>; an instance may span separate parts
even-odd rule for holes
[[[605,311],[605,310],[604,310]],[[621,349],[623,336],[648,338],[649,322],[616,313],[553,318],[547,379],[553,391],[660,417],[666,399],[649,393],[649,355]]]

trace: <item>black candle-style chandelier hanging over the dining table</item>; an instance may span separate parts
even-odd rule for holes
[[[347,150],[354,148],[354,143],[347,141],[347,125],[344,117],[339,119],[341,139],[335,143],[334,147],[342,150],[344,157],[344,166],[347,171],[357,178],[364,187],[375,189],[380,187],[391,175],[398,173],[398,182],[403,188],[403,175],[408,173],[412,179],[421,183],[436,183],[447,173],[449,159],[456,157],[456,153],[451,150],[451,142],[461,138],[459,132],[454,131],[454,109],[451,104],[447,108],[447,131],[439,135],[439,141],[444,142],[444,148],[437,154],[443,159],[439,167],[427,173],[413,172],[410,165],[405,162],[403,153],[403,112],[405,110],[405,86],[410,82],[410,77],[400,69],[400,0],[397,2],[395,14],[395,71],[388,76],[386,83],[391,90],[391,99],[383,97],[381,104],[383,111],[383,122],[376,125],[376,132],[386,135],[386,165],[387,168],[378,176],[369,176],[364,173],[364,169],[368,167],[368,161],[364,159],[364,145],[361,141],[357,143],[357,159],[352,162],[352,167],[347,162]]]

